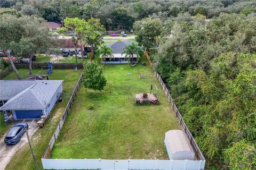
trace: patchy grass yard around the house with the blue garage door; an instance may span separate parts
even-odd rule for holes
[[[18,69],[21,75],[26,75],[28,73],[27,69]],[[58,125],[60,117],[66,108],[68,100],[71,96],[71,92],[73,91],[75,84],[79,76],[81,75],[82,70],[78,70],[74,72],[73,69],[53,69],[51,75],[49,75],[50,80],[64,80],[63,82],[63,92],[62,92],[62,102],[57,103],[52,112],[50,113],[49,120],[46,121],[44,128],[38,129],[33,137],[31,138],[31,142],[33,145],[33,149],[35,152],[35,156],[37,159],[37,163],[42,169],[41,158],[44,153],[46,146],[48,145],[52,134],[55,128]],[[41,69],[33,69],[33,74],[41,74],[44,73]],[[25,77],[23,77],[25,78]],[[6,75],[4,79],[17,79],[15,74],[11,72],[10,74]],[[1,124],[2,124],[2,117],[3,113],[1,113]],[[4,129],[3,129],[4,130]],[[2,131],[2,125],[1,125]],[[14,157],[11,159],[10,163],[6,166],[6,169],[36,169],[35,164],[33,162],[33,158],[31,156],[31,152],[28,147],[28,143],[19,149]]]

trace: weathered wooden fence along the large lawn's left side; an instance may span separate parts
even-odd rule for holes
[[[81,82],[82,82],[82,79],[83,79],[83,72],[81,73],[81,75],[80,75],[80,77],[79,77],[79,79],[78,79],[78,81],[77,81],[77,83],[76,83],[76,86],[75,86],[75,88],[74,88],[74,90],[73,90],[73,92],[72,92],[72,95],[71,95],[71,97],[70,97],[70,99],[69,99],[69,101],[68,101],[67,107],[65,108],[65,111],[63,112],[63,114],[62,114],[62,116],[61,116],[61,118],[60,118],[60,121],[59,121],[59,123],[58,123],[58,125],[57,125],[57,128],[55,129],[55,131],[54,131],[54,133],[53,133],[53,135],[52,135],[52,138],[51,138],[51,140],[50,140],[50,142],[49,142],[49,145],[46,147],[46,149],[45,149],[45,151],[44,151],[44,155],[43,155],[43,158],[44,158],[44,159],[49,159],[49,158],[51,157],[51,150],[52,150],[52,147],[53,147],[54,143],[55,143],[55,142],[57,141],[57,139],[58,139],[60,130],[62,129],[63,124],[65,123],[65,120],[66,120],[66,118],[67,118],[67,116],[68,116],[68,113],[69,113],[69,109],[71,108],[71,105],[72,105],[73,102],[74,102],[74,99],[75,99],[75,97],[76,97],[76,94],[77,94],[77,92],[78,92],[78,90],[79,90],[79,86],[80,86],[80,84],[81,84]]]

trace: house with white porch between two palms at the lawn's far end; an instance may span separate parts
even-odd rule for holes
[[[132,43],[133,43],[132,41],[116,41],[114,43],[108,44],[107,46],[113,50],[112,52],[113,57],[112,58],[106,57],[106,64],[127,64],[128,61],[127,59],[124,58],[126,54],[122,55],[122,53],[124,48]],[[137,55],[134,54],[133,62],[136,62],[136,60],[137,60]],[[105,61],[102,61],[102,63],[105,63]]]

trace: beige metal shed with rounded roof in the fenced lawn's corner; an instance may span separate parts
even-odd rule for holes
[[[164,143],[170,160],[194,160],[195,152],[182,130],[166,132]]]

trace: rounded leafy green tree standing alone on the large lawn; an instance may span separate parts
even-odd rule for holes
[[[84,64],[83,84],[85,88],[96,90],[103,90],[106,86],[107,80],[104,75],[104,69],[97,62],[87,62]]]

